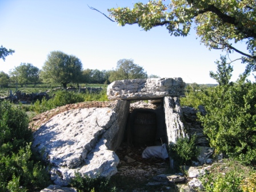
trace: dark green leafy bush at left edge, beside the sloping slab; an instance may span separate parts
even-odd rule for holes
[[[0,191],[35,191],[50,183],[31,152],[32,132],[21,106],[0,102]]]

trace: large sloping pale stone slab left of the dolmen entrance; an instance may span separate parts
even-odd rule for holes
[[[114,150],[123,137],[129,105],[117,101],[114,108],[69,110],[35,131],[32,146],[49,163],[55,185],[69,185],[75,172],[90,177],[117,173]]]

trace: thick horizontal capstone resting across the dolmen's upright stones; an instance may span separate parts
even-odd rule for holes
[[[107,97],[111,99],[135,100],[178,97],[186,83],[182,78],[126,79],[114,81],[107,87]]]

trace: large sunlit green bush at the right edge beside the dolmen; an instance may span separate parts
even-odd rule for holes
[[[238,82],[203,93],[206,116],[199,114],[210,145],[217,153],[243,163],[256,163],[256,84]]]

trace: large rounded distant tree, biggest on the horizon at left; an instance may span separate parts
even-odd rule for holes
[[[40,74],[44,82],[59,82],[66,89],[67,83],[79,83],[82,79],[82,63],[74,55],[51,51]]]

